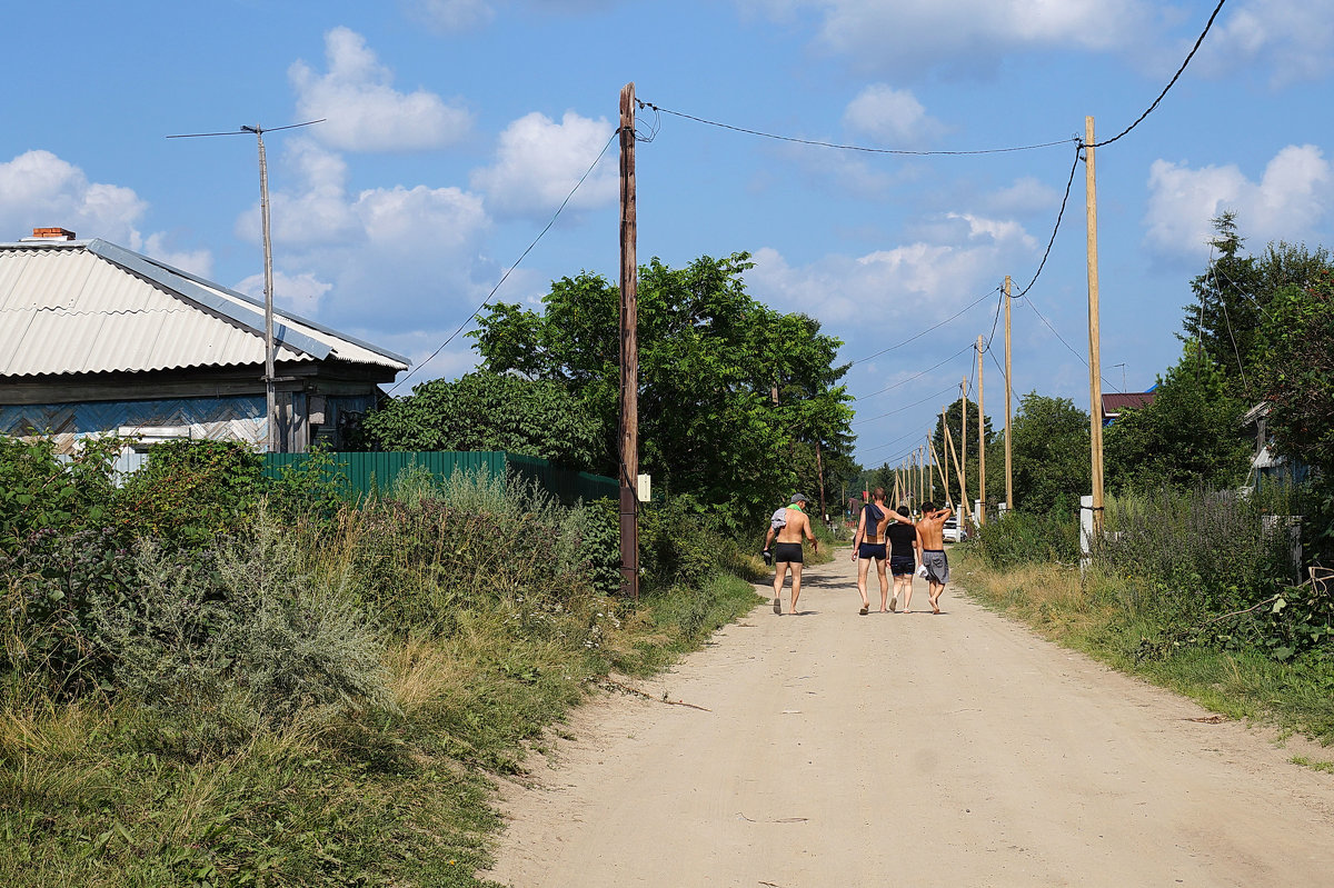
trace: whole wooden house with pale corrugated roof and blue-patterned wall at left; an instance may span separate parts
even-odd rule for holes
[[[280,451],[338,448],[404,357],[275,311]],[[264,304],[60,228],[0,244],[0,433],[268,437]]]

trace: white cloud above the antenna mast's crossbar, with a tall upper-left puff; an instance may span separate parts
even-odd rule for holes
[[[320,141],[343,151],[426,151],[462,140],[472,115],[426,89],[392,88],[394,73],[350,28],[324,35],[328,72],[317,75],[304,61],[288,68],[297,113],[327,119],[313,128]]]

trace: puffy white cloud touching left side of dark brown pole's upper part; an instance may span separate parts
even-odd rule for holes
[[[472,187],[484,191],[498,216],[551,213],[588,171],[598,152],[607,145],[614,127],[567,111],[560,123],[532,112],[515,120],[500,133],[496,163],[472,173]],[[590,209],[615,203],[618,172],[603,155],[603,163],[570,200],[572,208]]]

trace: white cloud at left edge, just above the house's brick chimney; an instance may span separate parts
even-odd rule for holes
[[[80,237],[136,247],[135,225],[148,204],[133,189],[89,183],[84,171],[49,151],[28,151],[0,163],[0,239],[19,240],[32,228],[61,227]]]

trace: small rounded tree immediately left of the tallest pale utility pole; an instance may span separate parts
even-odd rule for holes
[[[1079,497],[1091,484],[1089,415],[1074,401],[1037,392],[1022,396],[1010,452],[1017,509],[1043,515],[1079,507]],[[987,464],[990,468],[990,460]]]

